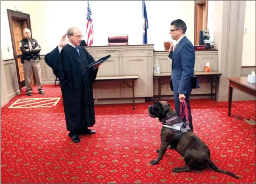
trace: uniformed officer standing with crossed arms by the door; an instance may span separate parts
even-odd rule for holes
[[[23,30],[23,35],[26,37],[20,41],[20,50],[22,52],[21,63],[24,69],[24,78],[26,84],[26,93],[32,95],[31,73],[32,68],[35,76],[35,81],[38,86],[39,94],[43,94],[42,77],[40,66],[40,51],[41,47],[34,38],[31,38],[31,31],[27,28]]]

